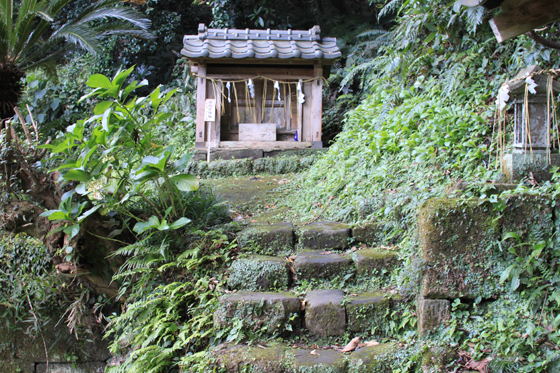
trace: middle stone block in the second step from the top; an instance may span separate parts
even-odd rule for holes
[[[321,251],[302,251],[294,260],[298,280],[329,280],[353,271],[350,258],[344,254],[323,254]]]

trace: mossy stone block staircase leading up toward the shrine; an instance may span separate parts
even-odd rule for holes
[[[392,309],[401,301],[397,294],[380,290],[345,294],[321,285],[305,293],[294,292],[302,281],[328,287],[329,281],[341,276],[391,271],[398,265],[395,251],[348,250],[350,243],[367,242],[379,229],[375,224],[351,229],[321,222],[300,227],[289,223],[253,226],[242,232],[240,245],[255,254],[237,259],[230,267],[230,292],[220,297],[214,324],[224,329],[242,320],[248,332],[273,342],[220,345],[212,352],[217,366],[227,372],[391,372],[391,356],[398,350],[395,343],[343,353],[332,347],[321,349],[313,342],[384,337],[382,326],[390,322]],[[282,338],[304,339],[316,348],[291,345]]]

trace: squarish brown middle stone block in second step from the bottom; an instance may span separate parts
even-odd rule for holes
[[[344,334],[346,311],[341,305],[342,290],[314,290],[305,299],[305,326],[312,334],[322,337]]]

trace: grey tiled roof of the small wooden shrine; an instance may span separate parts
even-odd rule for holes
[[[321,38],[319,26],[301,30],[236,30],[198,27],[185,35],[181,54],[187,58],[336,59],[336,38]]]

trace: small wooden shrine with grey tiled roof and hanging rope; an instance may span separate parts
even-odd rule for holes
[[[323,80],[341,56],[310,30],[208,29],[184,37],[197,76],[196,148],[322,147]]]

